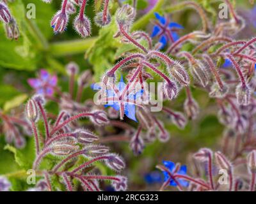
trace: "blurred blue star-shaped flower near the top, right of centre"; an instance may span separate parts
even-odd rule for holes
[[[170,22],[168,18],[162,17],[159,13],[155,13],[155,17],[157,18],[157,21],[155,22],[156,25],[153,27],[151,37],[159,37],[159,43],[161,43],[160,49],[163,49],[167,45],[168,41],[173,43],[179,40],[177,31],[179,29],[184,29],[182,25]]]

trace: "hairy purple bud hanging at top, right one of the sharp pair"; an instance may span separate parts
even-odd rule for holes
[[[76,17],[74,20],[74,27],[77,33],[79,33],[83,38],[86,38],[91,34],[91,22],[85,15],[83,15],[82,18],[80,15]]]

